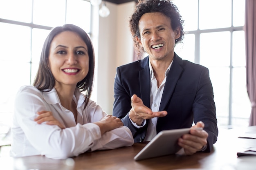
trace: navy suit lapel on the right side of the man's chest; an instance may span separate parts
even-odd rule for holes
[[[173,64],[171,66],[168,76],[166,77],[164,92],[162,95],[161,104],[159,106],[159,111],[164,110],[166,104],[169,102],[173,94],[180,74],[183,71],[183,68],[181,67],[182,63],[182,59],[178,57],[176,54],[174,54]]]

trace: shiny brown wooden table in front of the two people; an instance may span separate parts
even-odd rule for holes
[[[246,132],[256,132],[256,127],[246,128]],[[256,156],[237,157],[243,146],[256,146],[256,139],[238,139],[240,130],[220,130],[218,141],[211,153],[198,152],[193,156],[168,155],[134,161],[133,157],[146,145],[114,150],[86,152],[66,160],[31,156],[13,159],[0,157],[2,170],[256,170]],[[3,168],[4,167],[4,168]]]

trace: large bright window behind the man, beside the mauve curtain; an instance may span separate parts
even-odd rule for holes
[[[245,0],[173,0],[184,20],[175,52],[210,71],[218,126],[248,126],[251,104],[245,74]]]

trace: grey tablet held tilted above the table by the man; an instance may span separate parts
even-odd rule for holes
[[[181,149],[177,144],[178,139],[185,133],[189,133],[190,129],[162,130],[133,159],[139,161],[141,159],[175,154]]]

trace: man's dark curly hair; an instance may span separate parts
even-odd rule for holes
[[[138,52],[144,51],[143,47],[139,46],[139,42],[136,40],[136,37],[140,39],[139,33],[139,20],[141,16],[145,13],[155,13],[160,12],[166,17],[171,19],[171,27],[173,30],[180,27],[180,38],[175,40],[175,44],[178,44],[183,41],[184,31],[180,11],[177,9],[176,5],[170,2],[169,0],[139,0],[136,4],[134,13],[130,17],[129,26],[130,32],[132,33],[132,39],[137,47]]]

